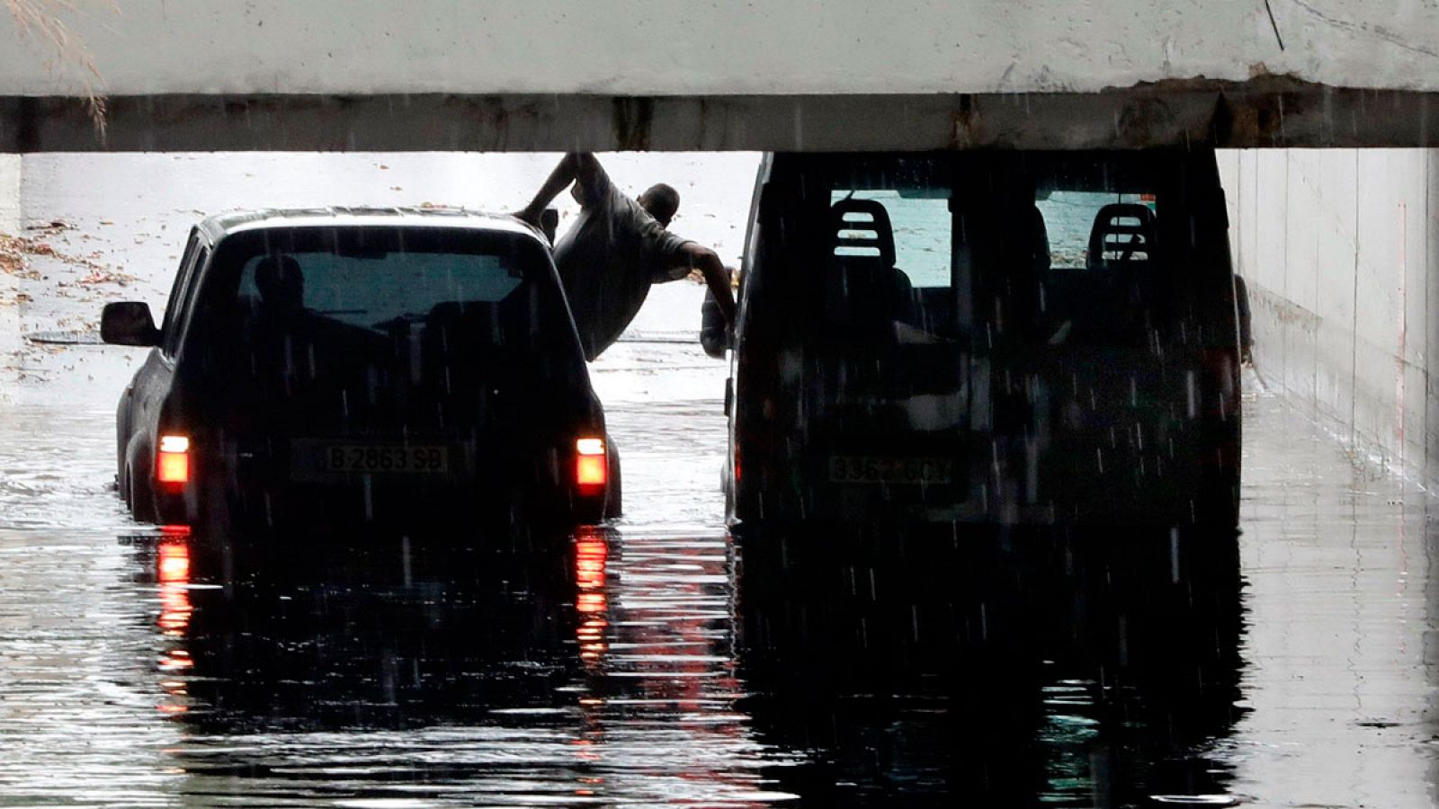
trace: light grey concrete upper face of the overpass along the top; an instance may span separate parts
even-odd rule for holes
[[[59,3],[50,4],[62,6]],[[1439,89],[1429,0],[79,0],[0,14],[0,95],[1092,92],[1291,75]],[[1278,29],[1278,30],[1276,30]]]

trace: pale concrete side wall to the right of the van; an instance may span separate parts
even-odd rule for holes
[[[1439,151],[1233,151],[1222,170],[1259,376],[1439,485]]]

